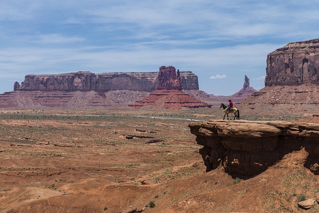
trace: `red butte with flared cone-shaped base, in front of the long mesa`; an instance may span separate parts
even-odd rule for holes
[[[181,91],[181,81],[179,70],[173,66],[161,66],[158,76],[157,90],[150,93],[140,101],[130,105],[134,108],[149,109],[181,109],[181,108],[199,108],[211,107],[211,105],[199,101],[185,92]]]

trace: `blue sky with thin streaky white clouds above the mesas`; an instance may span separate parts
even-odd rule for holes
[[[157,72],[232,95],[265,84],[267,54],[319,38],[319,1],[0,0],[0,93],[27,74]]]

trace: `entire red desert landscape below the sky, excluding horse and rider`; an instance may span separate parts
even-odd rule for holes
[[[0,212],[319,212],[318,43],[232,96],[173,66],[25,76],[0,95]]]

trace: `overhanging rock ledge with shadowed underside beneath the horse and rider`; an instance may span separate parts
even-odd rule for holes
[[[254,176],[304,147],[304,166],[319,174],[319,125],[285,121],[221,121],[191,123],[190,132],[202,145],[206,171],[222,166],[234,176]]]

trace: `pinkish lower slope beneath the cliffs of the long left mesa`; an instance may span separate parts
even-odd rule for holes
[[[97,91],[12,91],[0,94],[1,109],[79,109],[123,107],[141,100],[146,91],[116,90]]]

